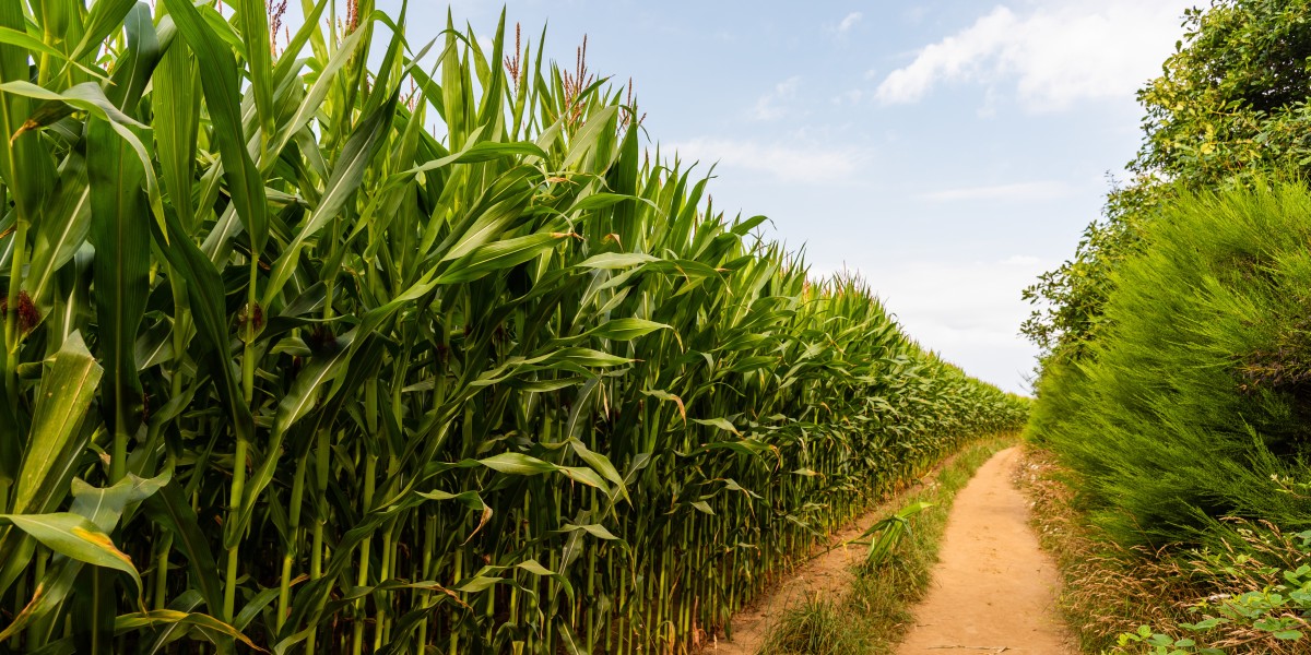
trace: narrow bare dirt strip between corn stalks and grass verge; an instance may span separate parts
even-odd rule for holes
[[[928,476],[906,489],[898,491],[893,498],[871,510],[861,517],[851,521],[846,528],[835,532],[829,544],[840,544],[860,536],[867,528],[899,510],[915,490],[926,483],[935,483],[937,474],[949,465],[954,457],[948,457],[939,464]],[[867,546],[836,548],[823,553],[814,559],[801,565],[796,571],[779,582],[766,597],[758,600],[751,607],[743,609],[733,617],[733,641],[717,641],[705,648],[713,655],[755,655],[764,643],[773,622],[783,616],[784,610],[793,605],[800,605],[808,599],[836,597],[851,586],[855,575],[852,567],[865,555]]]

